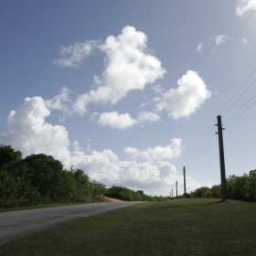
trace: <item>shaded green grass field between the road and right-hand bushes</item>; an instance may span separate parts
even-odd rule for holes
[[[5,243],[0,255],[256,255],[256,204],[143,203]]]

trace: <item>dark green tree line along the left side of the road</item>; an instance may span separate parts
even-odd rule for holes
[[[0,145],[0,207],[33,206],[62,202],[101,201],[114,197],[125,201],[162,201],[144,191],[127,187],[107,188],[91,180],[83,170],[69,171],[51,155],[32,154],[22,158],[11,145]]]

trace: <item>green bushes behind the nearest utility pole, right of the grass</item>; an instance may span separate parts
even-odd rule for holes
[[[256,200],[256,170],[243,176],[229,176],[226,180],[228,198],[239,200]],[[220,185],[199,187],[190,193],[190,197],[221,197]]]

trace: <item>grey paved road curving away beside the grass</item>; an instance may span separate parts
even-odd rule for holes
[[[73,219],[88,217],[138,202],[85,204],[57,208],[37,208],[0,213],[0,244],[48,229]]]

